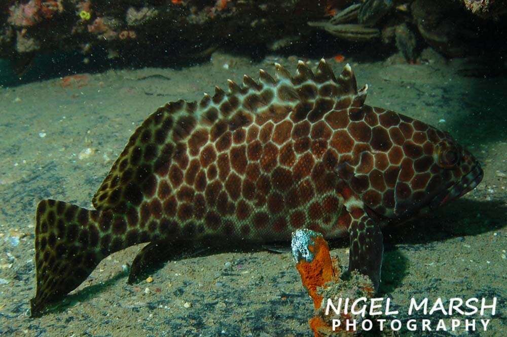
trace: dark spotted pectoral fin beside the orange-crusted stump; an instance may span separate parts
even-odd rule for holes
[[[349,271],[356,270],[370,277],[377,290],[384,252],[382,232],[378,224],[364,213],[352,221],[349,234]]]

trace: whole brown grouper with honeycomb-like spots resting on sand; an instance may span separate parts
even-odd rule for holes
[[[365,104],[347,64],[275,64],[256,82],[229,81],[200,102],[158,108],[130,137],[89,210],[37,207],[37,293],[31,313],[77,288],[106,256],[139,243],[134,259],[188,242],[291,241],[309,228],[350,238],[349,270],[377,289],[381,229],[474,189],[479,162],[446,132]],[[147,259],[146,259],[147,260]],[[132,276],[132,275],[131,275]],[[131,277],[129,277],[131,280]]]

